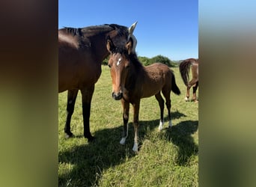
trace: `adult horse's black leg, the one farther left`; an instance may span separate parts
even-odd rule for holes
[[[67,138],[70,138],[73,136],[73,133],[70,131],[70,121],[74,111],[77,93],[78,93],[78,90],[67,91],[67,120],[64,127],[64,132]]]

